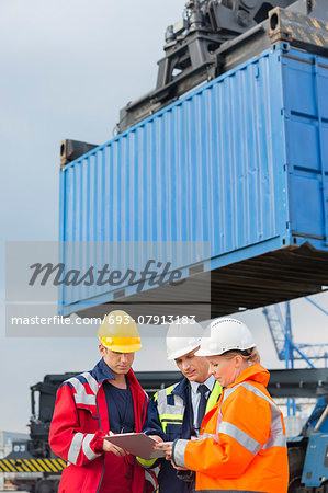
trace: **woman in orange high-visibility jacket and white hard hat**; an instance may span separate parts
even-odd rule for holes
[[[206,356],[224,388],[202,423],[196,440],[158,444],[174,467],[196,471],[199,492],[285,493],[289,482],[283,416],[267,385],[248,328],[217,319],[202,337],[197,356]]]

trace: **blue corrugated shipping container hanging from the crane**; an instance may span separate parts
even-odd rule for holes
[[[60,240],[90,244],[86,265],[88,242],[203,242],[203,259],[177,265],[211,271],[212,316],[319,291],[327,81],[327,59],[276,44],[61,168]],[[66,286],[59,310],[117,298]]]

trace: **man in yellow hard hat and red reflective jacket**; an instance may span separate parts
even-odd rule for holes
[[[59,493],[152,492],[154,473],[104,439],[111,433],[143,429],[148,399],[131,368],[142,347],[138,328],[116,310],[104,319],[98,336],[102,359],[57,391],[49,445],[67,461]]]

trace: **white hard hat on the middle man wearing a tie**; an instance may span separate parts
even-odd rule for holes
[[[201,337],[204,333],[202,325],[191,319],[183,319],[181,322],[173,322],[167,333],[168,359],[176,359],[184,356],[201,345]]]

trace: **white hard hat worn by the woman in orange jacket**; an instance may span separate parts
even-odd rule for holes
[[[215,356],[231,349],[250,349],[256,343],[250,330],[236,319],[217,319],[204,331],[196,356]]]

